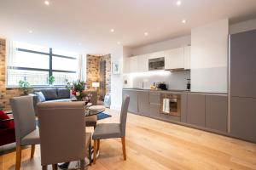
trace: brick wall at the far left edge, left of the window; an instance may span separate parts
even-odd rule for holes
[[[18,88],[5,87],[5,54],[6,41],[0,38],[0,110],[9,111],[9,99],[20,96],[20,90]]]

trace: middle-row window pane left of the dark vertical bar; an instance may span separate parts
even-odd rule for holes
[[[49,69],[49,56],[16,51],[16,56],[10,66]]]

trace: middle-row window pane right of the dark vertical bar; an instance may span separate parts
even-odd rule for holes
[[[78,71],[78,59],[67,59],[61,57],[52,57],[52,69],[61,71]]]

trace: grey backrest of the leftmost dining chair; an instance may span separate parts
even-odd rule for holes
[[[32,96],[21,96],[10,99],[15,119],[15,139],[20,144],[26,134],[36,129],[36,117]]]

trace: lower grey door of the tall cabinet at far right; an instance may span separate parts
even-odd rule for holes
[[[256,142],[256,99],[231,97],[230,133]]]

